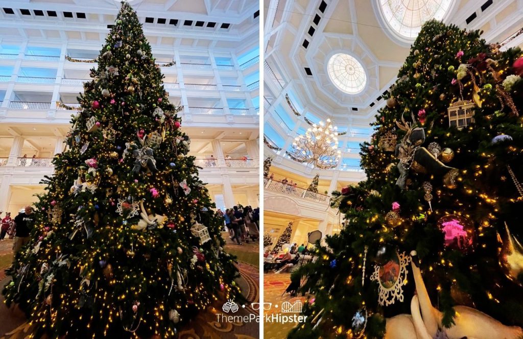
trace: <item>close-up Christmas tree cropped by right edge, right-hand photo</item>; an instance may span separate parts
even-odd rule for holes
[[[346,227],[316,248],[290,338],[523,335],[522,53],[428,21],[376,133],[367,179],[334,192]]]

